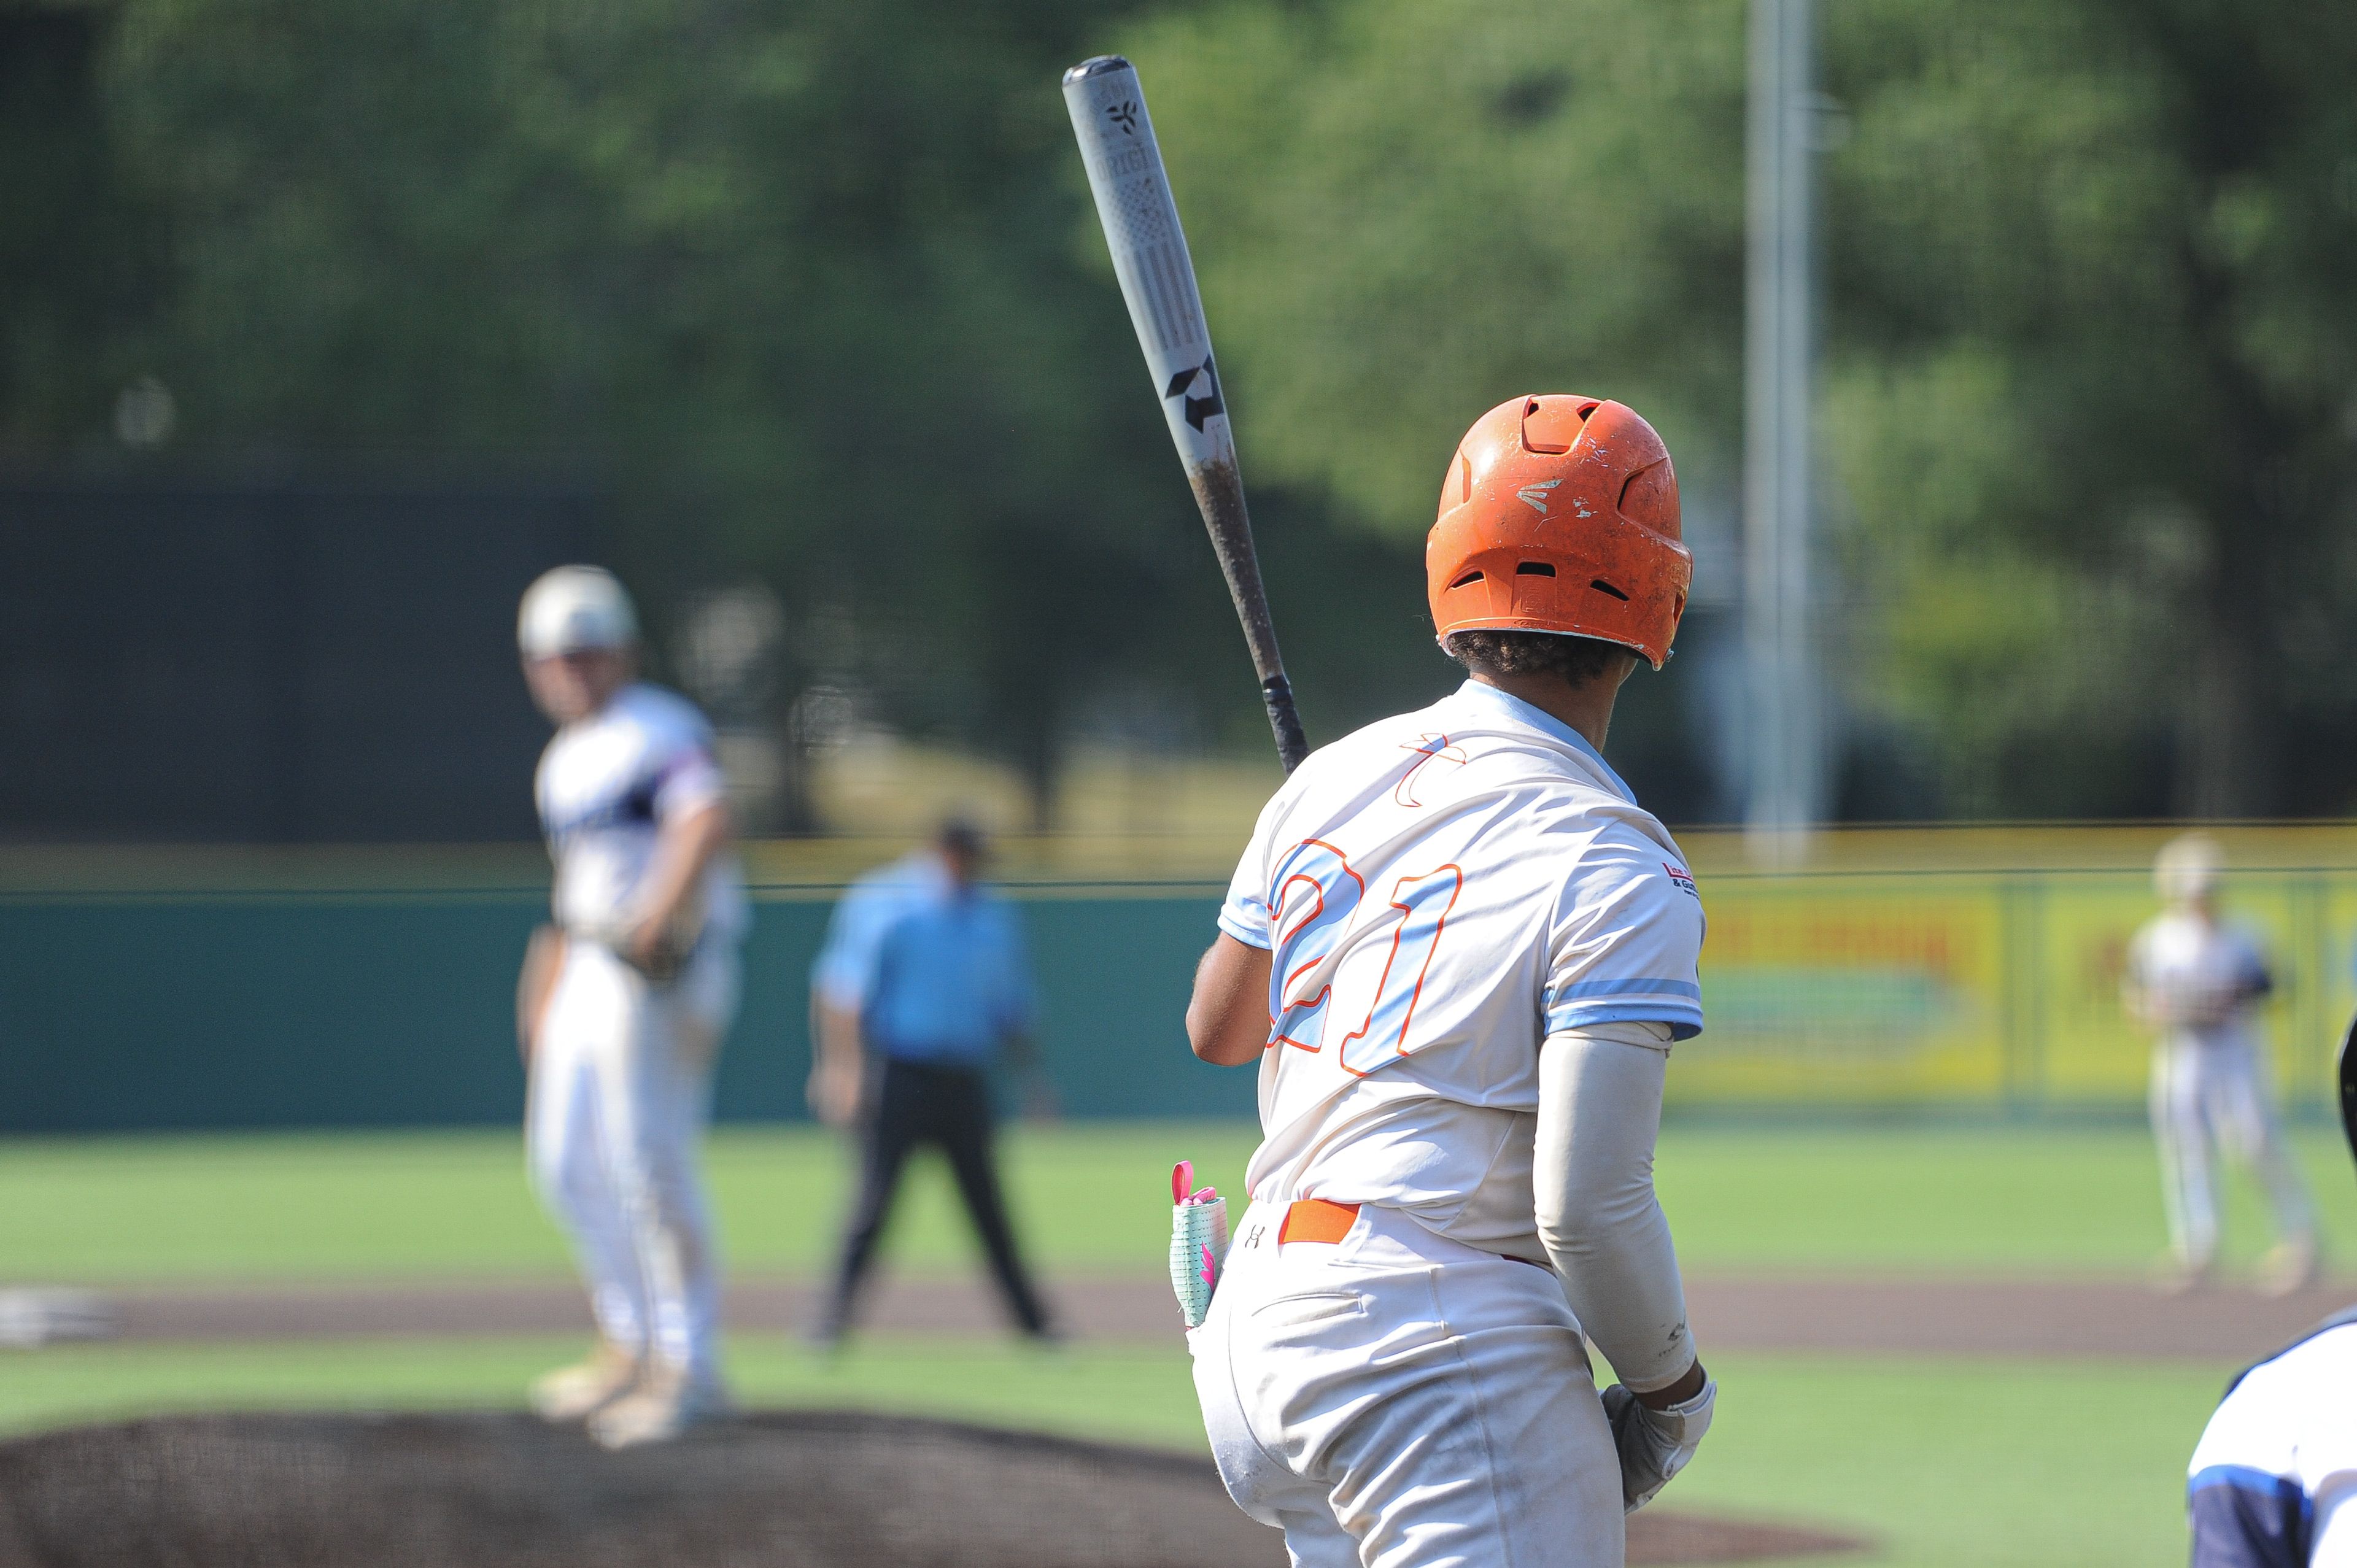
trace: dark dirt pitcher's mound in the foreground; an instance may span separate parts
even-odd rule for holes
[[[1850,1537],[1648,1509],[1631,1563]],[[1280,1568],[1207,1460],[877,1415],[599,1452],[521,1415],[172,1417],[0,1443],[0,1568]]]

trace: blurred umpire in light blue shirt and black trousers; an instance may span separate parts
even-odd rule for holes
[[[990,1134],[988,1068],[1030,1059],[1032,986],[1014,908],[981,884],[983,835],[950,821],[844,894],[811,976],[811,1111],[860,1137],[860,1193],[820,1344],[851,1330],[910,1153],[936,1144],[1016,1325],[1051,1337],[1016,1254]]]

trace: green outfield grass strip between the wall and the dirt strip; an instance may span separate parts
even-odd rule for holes
[[[2303,1129],[2329,1250],[2357,1261],[2338,1134]],[[1009,1184],[1028,1240],[1058,1269],[1157,1269],[1169,1165],[1223,1191],[1252,1134],[1230,1122],[1018,1129]],[[811,1129],[724,1129],[712,1184],[742,1273],[825,1264],[849,1177]],[[2161,1247],[2152,1144],[2135,1129],[1784,1129],[1673,1125],[1662,1200],[1695,1271],[2135,1273]],[[2234,1193],[2232,1250],[2263,1240]],[[893,1257],[959,1269],[966,1236],[938,1170],[919,1170]],[[16,1139],[0,1144],[0,1278],[61,1283],[552,1276],[566,1257],[509,1132]]]

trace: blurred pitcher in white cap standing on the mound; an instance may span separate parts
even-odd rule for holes
[[[728,1405],[698,1144],[735,1016],[745,887],[712,731],[636,681],[622,585],[559,566],[523,597],[519,644],[559,726],[535,785],[556,924],[519,983],[526,1155],[599,1330],[589,1361],[533,1384],[533,1408],[632,1448]]]

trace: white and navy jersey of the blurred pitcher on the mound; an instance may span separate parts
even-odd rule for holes
[[[636,913],[655,828],[724,797],[712,726],[684,698],[625,686],[601,710],[566,724],[540,755],[533,783],[556,861],[556,924],[608,929]],[[745,882],[721,856],[705,875],[705,929],[745,929]]]

